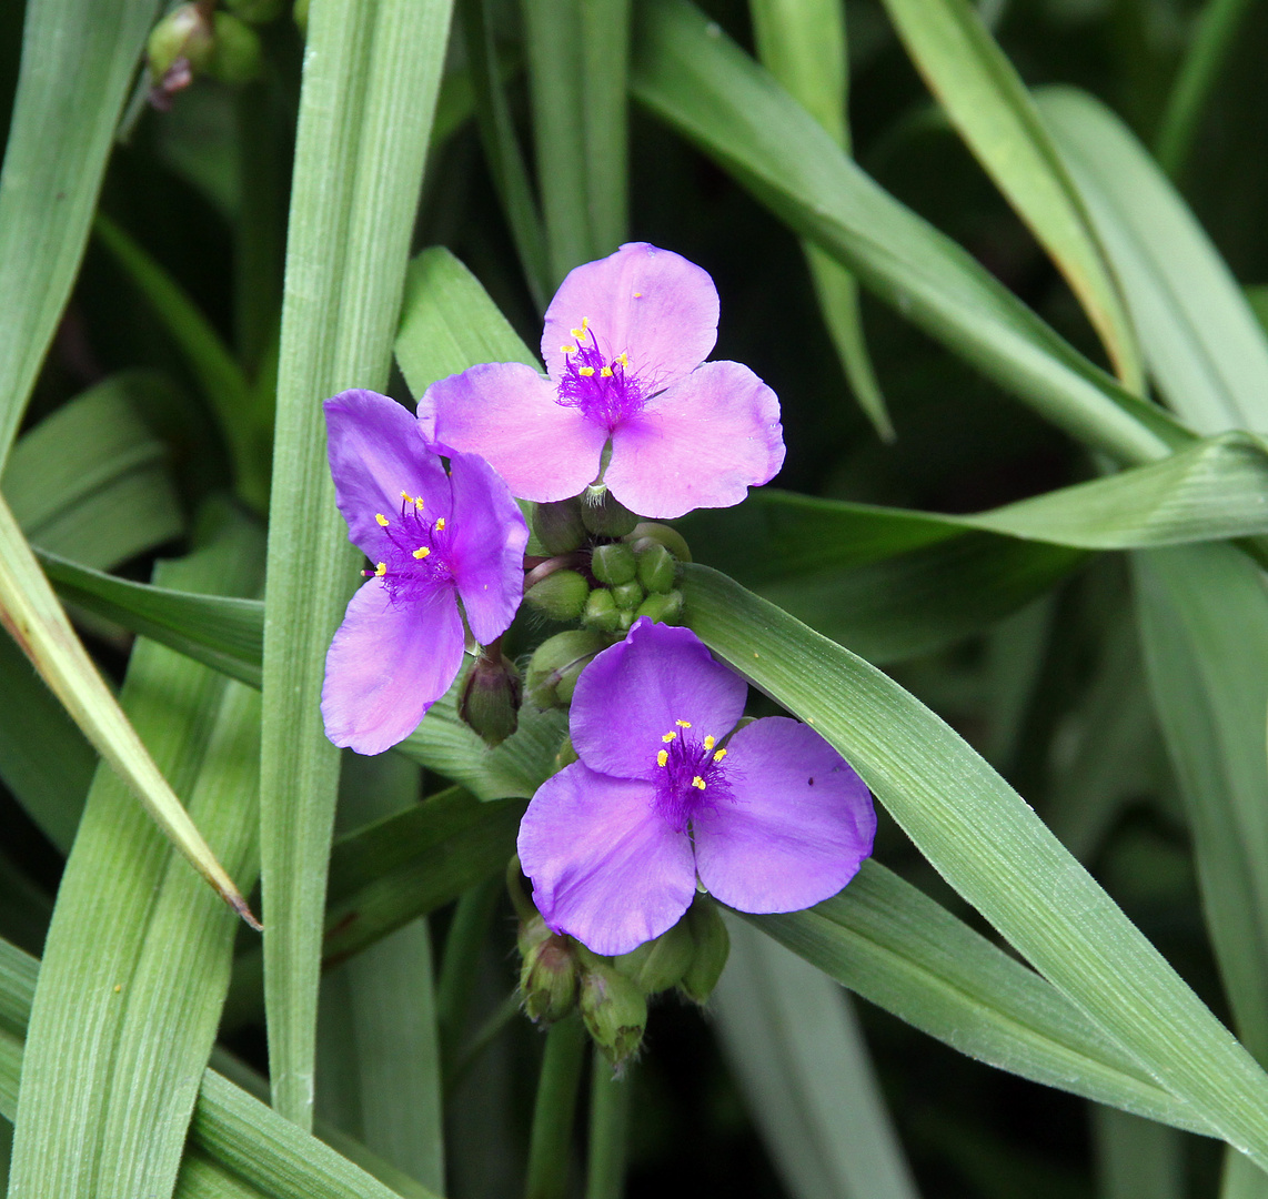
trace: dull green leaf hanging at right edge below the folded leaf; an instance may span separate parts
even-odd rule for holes
[[[1132,555],[1154,707],[1238,1033],[1268,1061],[1268,596],[1225,545]]]

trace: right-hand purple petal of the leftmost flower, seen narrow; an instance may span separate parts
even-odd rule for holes
[[[524,596],[529,526],[497,471],[474,454],[449,464],[454,507],[449,564],[476,640],[487,645],[506,631]]]

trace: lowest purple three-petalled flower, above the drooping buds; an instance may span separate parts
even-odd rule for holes
[[[871,853],[864,781],[818,733],[775,716],[729,739],[744,681],[690,629],[635,621],[577,682],[581,760],[548,778],[520,825],[547,924],[595,953],[672,928],[696,891],[741,911],[836,895]]]

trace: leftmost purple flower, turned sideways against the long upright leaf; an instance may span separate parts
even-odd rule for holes
[[[336,745],[377,754],[407,738],[477,641],[506,630],[524,593],[529,530],[506,484],[472,454],[449,473],[396,401],[326,401],[330,471],[349,539],[375,564],[347,605],[321,711]]]

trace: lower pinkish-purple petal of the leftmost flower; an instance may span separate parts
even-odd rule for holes
[[[326,736],[359,754],[403,741],[463,664],[463,622],[453,587],[392,603],[378,579],[347,605],[326,655]]]

